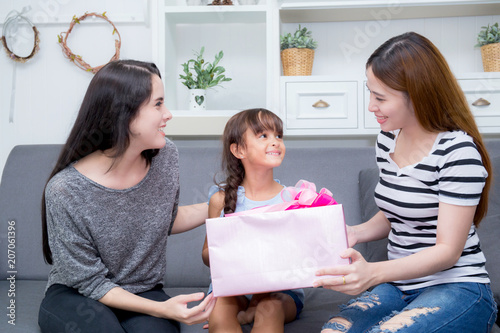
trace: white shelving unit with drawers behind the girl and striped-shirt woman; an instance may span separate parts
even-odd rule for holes
[[[174,114],[169,135],[220,135],[231,115],[251,107],[278,113],[288,136],[373,135],[379,127],[367,111],[365,61],[385,40],[410,30],[440,48],[471,103],[479,95],[489,96],[489,106],[472,109],[483,133],[500,133],[500,73],[484,73],[479,50],[473,47],[481,26],[500,21],[500,1],[233,2],[187,6],[183,0],[163,0],[152,6],[153,60],[162,71],[166,104]],[[295,31],[298,24],[318,40],[313,73],[285,77],[279,36]],[[209,90],[207,111],[195,113],[187,110],[188,91],[179,74],[181,64],[201,46],[208,61],[224,51],[221,65],[233,81]],[[304,104],[322,91],[333,101],[330,108]]]

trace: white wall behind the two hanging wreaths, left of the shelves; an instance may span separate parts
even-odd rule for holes
[[[31,6],[26,16],[40,32],[40,51],[26,63],[12,61],[0,44],[0,174],[15,145],[63,143],[71,129],[93,76],[66,59],[57,42],[73,15],[106,11],[121,35],[120,58],[151,61],[148,4],[147,0],[0,0],[0,28],[11,10]],[[90,65],[104,64],[115,53],[112,31],[106,21],[87,18],[75,25],[68,46]],[[20,40],[33,38],[32,33],[25,34],[22,30]],[[22,45],[12,44],[18,46]],[[11,107],[13,122],[9,121]]]

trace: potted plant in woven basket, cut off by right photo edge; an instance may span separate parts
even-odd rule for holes
[[[485,72],[500,72],[500,31],[498,22],[481,27],[477,35],[477,45],[481,47],[481,58]]]

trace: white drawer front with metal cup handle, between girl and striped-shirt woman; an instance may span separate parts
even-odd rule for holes
[[[285,82],[287,129],[358,128],[357,81]],[[324,106],[314,106],[324,101]]]

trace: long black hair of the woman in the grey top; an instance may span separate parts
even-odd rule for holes
[[[73,129],[48,180],[97,150],[112,149],[113,158],[122,156],[130,144],[130,122],[151,97],[153,75],[160,77],[155,64],[135,60],[117,60],[101,68],[89,84]],[[157,149],[150,149],[141,154],[150,164],[157,153]],[[45,193],[42,197],[42,237],[45,261],[52,264]]]

